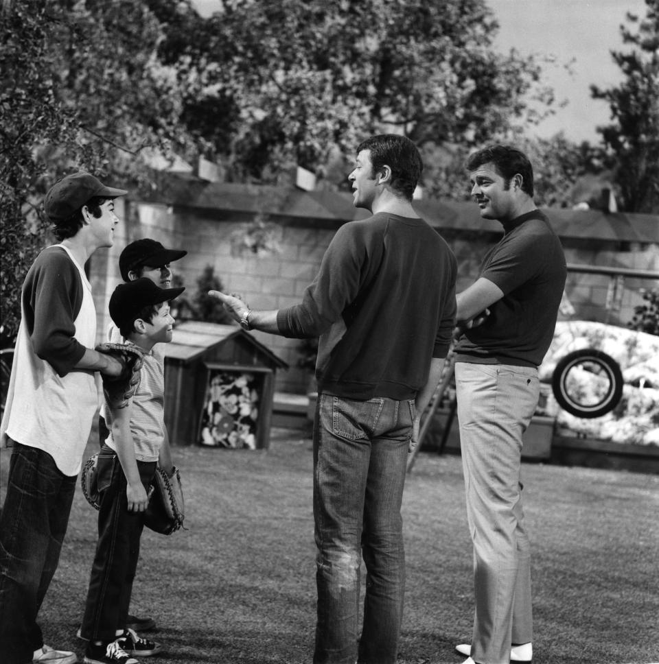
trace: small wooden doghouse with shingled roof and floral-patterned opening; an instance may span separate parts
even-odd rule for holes
[[[161,348],[172,444],[268,447],[275,372],[286,362],[240,327],[193,320]]]

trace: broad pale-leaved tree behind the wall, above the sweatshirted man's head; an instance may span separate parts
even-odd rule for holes
[[[277,182],[299,164],[327,177],[369,134],[467,143],[535,122],[540,65],[492,50],[483,0],[224,0],[182,49],[160,47],[186,117],[236,179]],[[218,117],[222,121],[218,122]]]

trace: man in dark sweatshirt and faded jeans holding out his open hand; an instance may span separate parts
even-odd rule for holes
[[[301,304],[251,311],[211,291],[245,329],[320,337],[315,664],[396,661],[407,453],[439,382],[456,313],[456,260],[412,206],[422,169],[404,137],[384,134],[358,146],[349,180],[354,205],[372,216],[338,229]],[[367,580],[358,637],[360,550]]]

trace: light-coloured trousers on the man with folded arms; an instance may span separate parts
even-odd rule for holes
[[[471,655],[478,664],[509,664],[511,643],[533,640],[520,462],[540,382],[535,368],[466,362],[456,363],[455,382],[474,543]]]

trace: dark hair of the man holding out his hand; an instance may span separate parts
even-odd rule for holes
[[[371,151],[372,172],[377,173],[383,166],[389,166],[391,189],[407,200],[412,200],[412,194],[424,170],[417,146],[410,139],[398,134],[378,134],[357,146],[357,154],[362,150]]]

